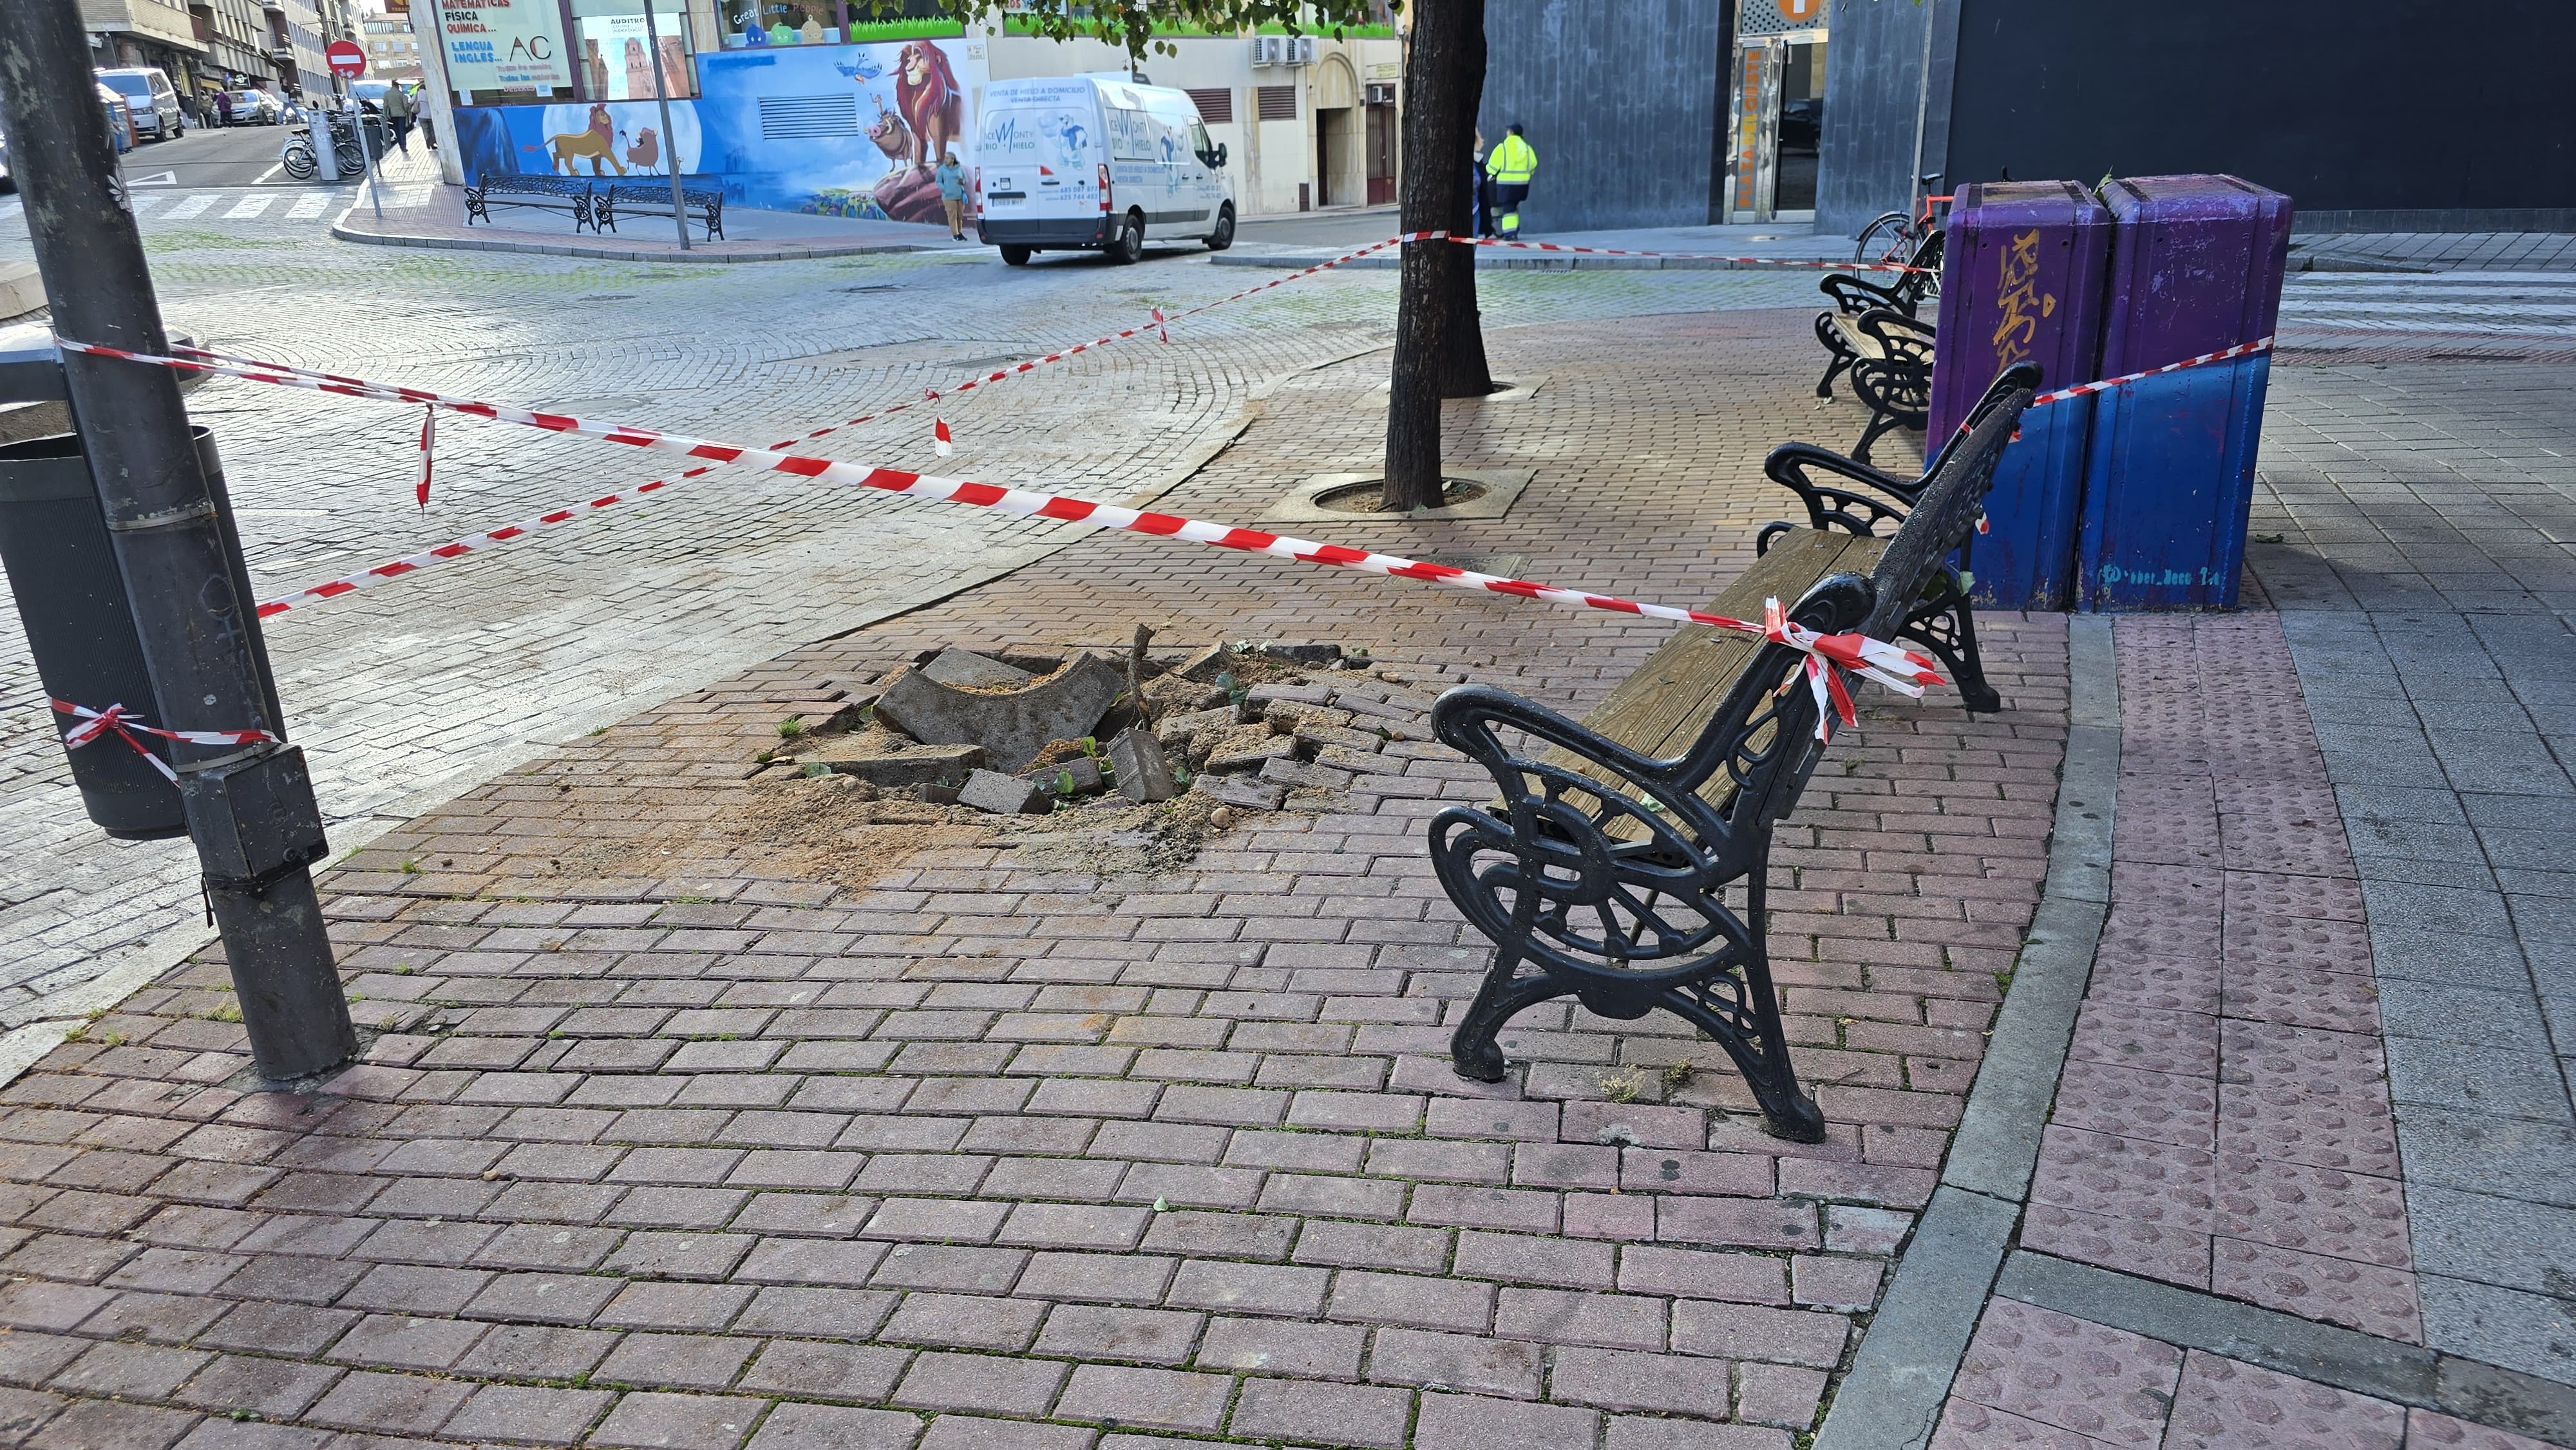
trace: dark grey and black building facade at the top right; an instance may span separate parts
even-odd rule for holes
[[[1857,232],[1924,173],[2233,173],[2300,229],[2576,229],[2576,5],[2491,0],[2476,33],[2460,108],[2409,0],[1486,0],[1479,121],[1528,124],[1540,232]]]

